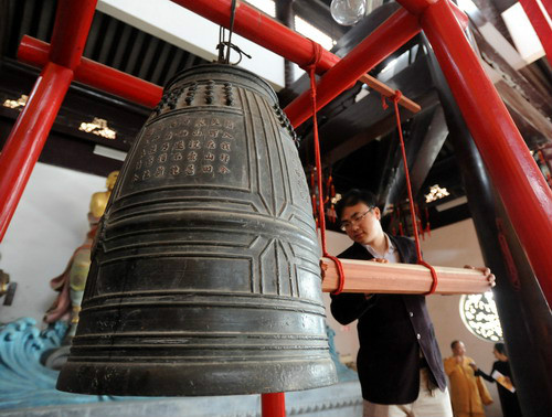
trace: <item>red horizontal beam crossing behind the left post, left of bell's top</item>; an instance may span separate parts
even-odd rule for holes
[[[19,45],[18,58],[42,67],[49,62],[50,50],[47,43],[24,35]],[[157,106],[163,94],[162,87],[156,84],[85,57],[75,68],[75,81],[147,107]]]

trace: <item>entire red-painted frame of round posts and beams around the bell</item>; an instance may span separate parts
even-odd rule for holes
[[[231,0],[173,1],[229,26]],[[464,13],[448,0],[399,2],[404,9],[395,12],[339,64],[337,56],[322,53],[317,65],[317,73],[326,73],[318,85],[319,106],[330,101],[359,75],[423,29],[549,306],[552,306],[552,257],[549,254],[552,192],[464,34]],[[51,46],[28,38],[21,44],[21,57],[44,65],[44,68],[0,154],[0,239],[73,78],[149,106],[153,106],[160,97],[158,86],[82,58],[95,7],[96,0],[60,0]],[[309,40],[244,2],[238,2],[234,30],[299,65],[312,60]],[[286,108],[295,126],[311,115],[304,101],[305,97],[300,96]],[[283,393],[263,395],[263,416],[284,416],[284,404]]]

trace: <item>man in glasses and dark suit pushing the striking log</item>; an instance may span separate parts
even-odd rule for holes
[[[416,263],[412,239],[383,232],[372,193],[347,193],[338,205],[338,216],[341,228],[354,240],[339,257]],[[337,321],[349,324],[359,320],[357,367],[364,417],[453,416],[443,360],[424,296],[341,293],[331,299]]]

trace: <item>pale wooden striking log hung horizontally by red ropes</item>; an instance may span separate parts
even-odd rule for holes
[[[412,264],[380,264],[369,260],[340,259],[344,270],[343,292],[425,293],[432,287],[428,268]],[[338,288],[338,270],[329,258],[320,261],[322,291]],[[477,269],[434,267],[437,272],[435,293],[481,293],[490,290],[485,275]]]

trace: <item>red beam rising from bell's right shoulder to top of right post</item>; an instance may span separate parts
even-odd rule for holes
[[[317,84],[317,110],[354,85],[361,75],[372,70],[418,32],[416,17],[402,8],[395,11],[322,76]],[[312,115],[310,92],[302,93],[284,110],[291,125],[297,128]]]

